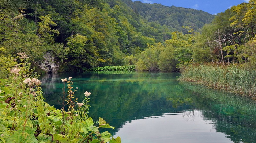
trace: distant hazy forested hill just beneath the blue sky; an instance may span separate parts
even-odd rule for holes
[[[132,2],[123,0],[135,12],[139,13],[147,22],[158,22],[166,25],[172,31],[187,32],[182,26],[191,26],[195,30],[202,28],[204,24],[211,23],[215,15],[202,10],[195,10],[182,7],[167,7],[161,4],[146,4],[140,1]]]

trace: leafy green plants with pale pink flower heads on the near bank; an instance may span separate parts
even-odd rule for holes
[[[61,79],[64,84],[62,109],[55,109],[44,102],[40,80],[36,74],[30,74],[27,55],[18,53],[19,65],[10,70],[12,74],[0,85],[0,142],[26,143],[76,143],[101,142],[110,140],[121,143],[120,138],[111,138],[111,134],[100,132],[99,128],[114,128],[99,118],[96,126],[88,117],[90,92],[85,92],[84,101],[77,103],[72,87],[72,77]],[[65,93],[67,83],[67,94]],[[76,104],[75,104],[76,103]],[[68,111],[64,106],[68,105]],[[78,107],[76,107],[78,105]]]

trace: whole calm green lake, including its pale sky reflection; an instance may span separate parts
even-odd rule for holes
[[[61,108],[61,78],[72,77],[79,101],[103,117],[122,143],[255,143],[256,104],[232,93],[177,81],[178,73],[60,73],[41,77],[44,97]]]

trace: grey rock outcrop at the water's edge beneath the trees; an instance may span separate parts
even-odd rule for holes
[[[59,70],[59,63],[55,61],[55,57],[52,53],[47,52],[44,55],[44,61],[39,63],[39,67],[47,73],[57,73]]]

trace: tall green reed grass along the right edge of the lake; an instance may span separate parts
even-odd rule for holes
[[[237,66],[194,65],[182,72],[180,80],[240,93],[256,99],[256,71]]]

